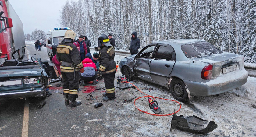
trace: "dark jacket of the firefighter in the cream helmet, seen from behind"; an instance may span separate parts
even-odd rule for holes
[[[76,71],[80,71],[84,67],[77,47],[71,42],[60,43],[57,47],[56,57],[59,62],[62,61],[61,72],[74,73],[74,65]]]

